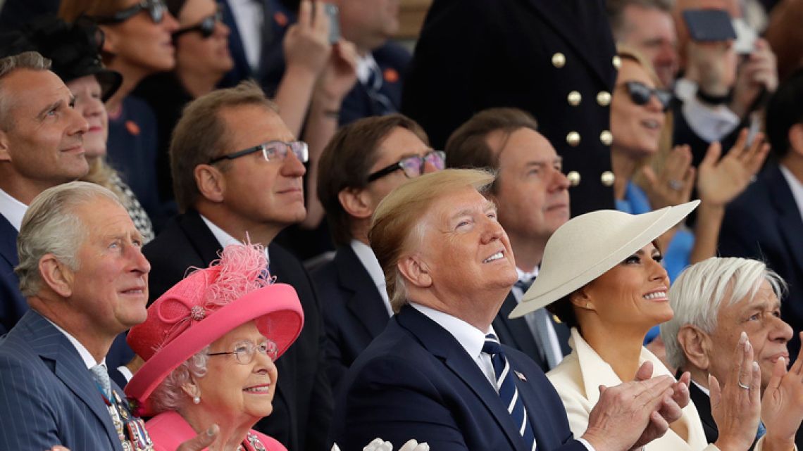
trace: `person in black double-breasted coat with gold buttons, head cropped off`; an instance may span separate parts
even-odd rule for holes
[[[618,65],[604,0],[434,0],[402,113],[441,147],[476,112],[521,108],[563,157],[572,213],[612,209],[609,105]]]

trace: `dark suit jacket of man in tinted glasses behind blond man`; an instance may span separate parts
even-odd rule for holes
[[[336,388],[357,356],[381,331],[389,315],[377,286],[351,246],[312,273],[326,329],[329,382]]]

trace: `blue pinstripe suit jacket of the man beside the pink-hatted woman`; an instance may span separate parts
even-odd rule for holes
[[[122,451],[78,351],[42,315],[28,311],[0,341],[0,449],[43,451],[53,445]]]

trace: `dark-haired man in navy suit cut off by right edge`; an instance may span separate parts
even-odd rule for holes
[[[803,69],[786,79],[769,101],[767,136],[775,161],[725,210],[719,254],[756,258],[789,283],[781,308],[793,330],[803,329]],[[794,359],[801,341],[793,336]]]

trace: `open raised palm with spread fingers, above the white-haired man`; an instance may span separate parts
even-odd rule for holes
[[[767,158],[769,144],[764,143],[764,134],[760,132],[756,133],[749,147],[747,141],[748,130],[745,128],[728,155],[721,159],[719,143],[711,144],[698,169],[697,193],[701,201],[724,207],[748,187]]]

